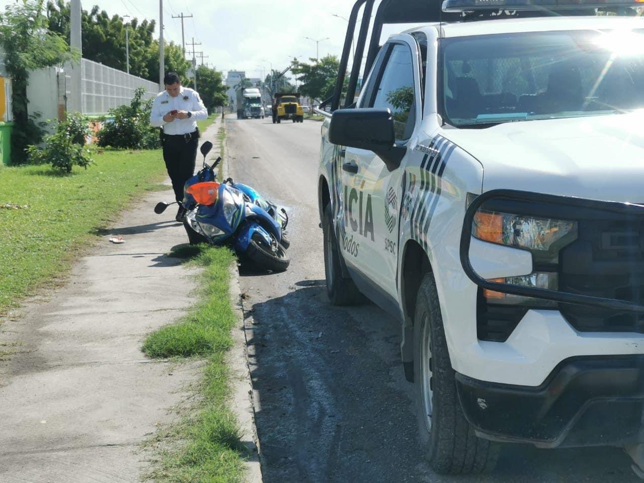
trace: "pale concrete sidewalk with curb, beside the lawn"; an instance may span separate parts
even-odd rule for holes
[[[217,120],[202,135],[215,146],[209,159],[218,151],[219,128]],[[64,287],[46,301],[27,303],[20,317],[0,326],[0,343],[15,343],[15,354],[0,360],[0,482],[140,481],[151,457],[140,443],[178,417],[173,407],[199,376],[198,363],[150,361],[140,351],[146,334],[194,302],[195,270],[166,256],[187,243],[176,209],[153,211],[156,202],[173,197],[171,189],[152,193],[123,213]],[[126,242],[109,243],[111,234]],[[236,281],[232,298],[240,308]],[[256,433],[238,315],[229,354],[238,384],[234,410],[252,448]],[[249,468],[249,480],[260,481],[257,458]]]

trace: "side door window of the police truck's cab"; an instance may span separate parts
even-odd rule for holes
[[[368,107],[391,109],[396,140],[409,139],[415,124],[415,92],[412,52],[408,46],[392,46],[373,99]]]

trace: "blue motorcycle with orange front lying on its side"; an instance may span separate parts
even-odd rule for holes
[[[285,253],[290,245],[284,234],[289,223],[286,211],[232,178],[216,182],[214,168],[222,158],[208,166],[205,158],[212,148],[209,141],[202,144],[203,167],[185,182],[181,205],[186,210],[184,227],[189,242],[227,245],[242,262],[251,261],[274,272],[286,270],[290,263]],[[163,213],[172,204],[158,203],[155,213]]]

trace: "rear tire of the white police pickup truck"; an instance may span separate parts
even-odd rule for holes
[[[327,279],[327,297],[332,305],[357,305],[364,300],[363,294],[355,287],[350,278],[343,278],[337,246],[336,231],[332,222],[331,205],[328,204],[322,220],[324,239],[324,268]]]

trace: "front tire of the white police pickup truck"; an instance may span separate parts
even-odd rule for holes
[[[419,433],[431,468],[443,475],[491,471],[500,447],[478,438],[460,407],[431,273],[425,274],[418,291],[413,336]]]

